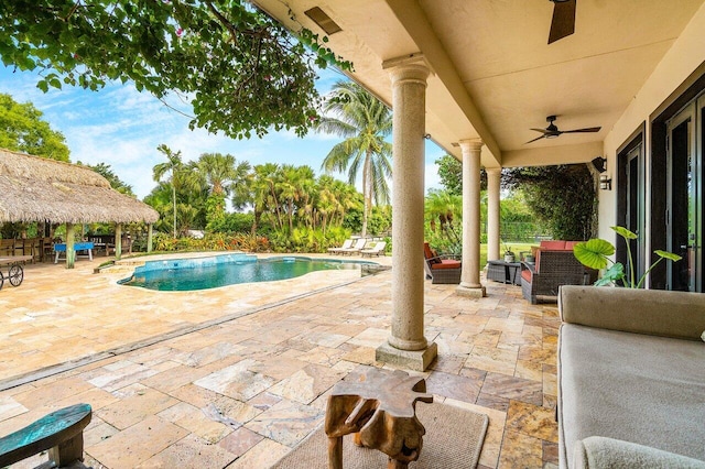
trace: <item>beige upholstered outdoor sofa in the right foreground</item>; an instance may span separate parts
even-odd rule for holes
[[[705,295],[561,287],[561,468],[705,468]]]

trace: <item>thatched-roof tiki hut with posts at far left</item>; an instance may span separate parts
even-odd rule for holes
[[[121,223],[143,221],[149,226],[159,214],[149,205],[120,194],[95,171],[0,149],[0,223],[66,223],[66,266],[73,269],[74,225],[116,223],[116,258],[120,258]]]

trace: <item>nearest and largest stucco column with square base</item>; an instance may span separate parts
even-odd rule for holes
[[[424,336],[423,208],[425,94],[423,62],[394,64],[392,80],[392,324],[377,360],[425,370],[437,346]]]

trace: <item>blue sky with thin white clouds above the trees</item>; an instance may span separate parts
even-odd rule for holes
[[[156,150],[166,144],[181,151],[184,162],[197,160],[202,153],[229,153],[238,162],[251,165],[280,163],[308,165],[322,174],[321,164],[339,138],[310,132],[301,139],[290,131],[270,132],[262,139],[234,140],[204,129],[189,130],[189,119],[164,106],[149,92],[139,92],[132,84],[112,84],[98,91],[65,86],[43,92],[36,88],[37,75],[13,72],[0,65],[0,92],[18,102],[32,102],[44,113],[52,129],[66,138],[70,162],[96,165],[109,164],[117,176],[140,198],[144,198],[156,183],[152,167],[166,161]],[[333,69],[319,72],[318,91],[328,92],[344,76]],[[172,97],[174,105],[182,105]],[[425,186],[440,187],[435,161],[445,152],[426,141]],[[346,181],[344,175],[333,176]],[[358,176],[358,190],[361,190]]]

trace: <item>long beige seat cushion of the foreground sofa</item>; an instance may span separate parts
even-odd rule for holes
[[[702,341],[563,324],[558,386],[562,467],[590,436],[705,460]]]

